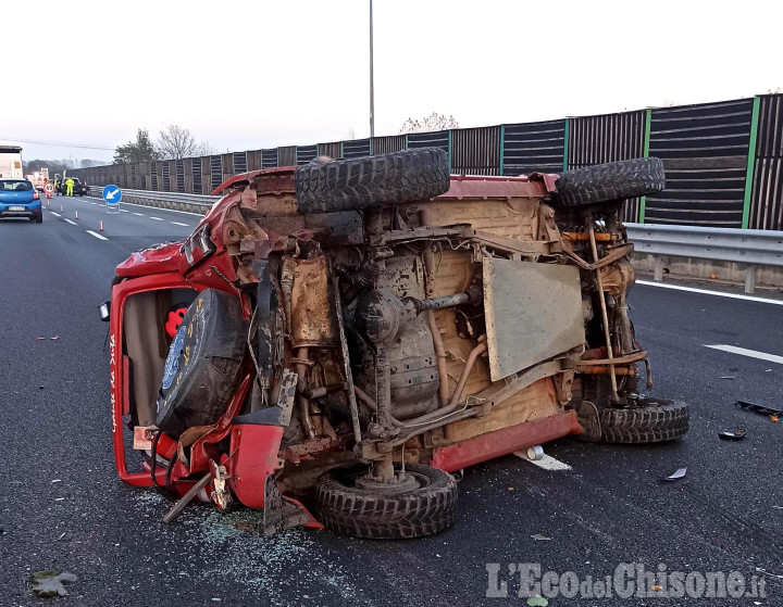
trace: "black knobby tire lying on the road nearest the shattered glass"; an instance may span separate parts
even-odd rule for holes
[[[426,484],[402,493],[380,493],[353,486],[361,469],[336,469],[315,482],[319,518],[326,529],[370,540],[432,535],[457,519],[457,481],[432,466],[406,464],[406,472]]]

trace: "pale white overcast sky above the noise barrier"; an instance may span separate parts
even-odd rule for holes
[[[783,88],[783,3],[374,0],[375,134]],[[4,2],[0,142],[94,157],[173,123],[217,151],[368,137],[369,0]],[[26,26],[14,24],[25,23]],[[18,74],[18,77],[13,77]]]

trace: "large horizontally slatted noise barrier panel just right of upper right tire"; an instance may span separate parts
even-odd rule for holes
[[[753,99],[652,110],[649,155],[667,189],[647,197],[645,222],[742,227]]]

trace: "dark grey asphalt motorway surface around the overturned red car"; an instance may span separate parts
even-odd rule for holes
[[[439,535],[371,542],[296,529],[268,539],[259,513],[209,506],[166,527],[170,503],[114,471],[97,305],[117,263],[181,240],[198,217],[121,207],[107,215],[97,199],[55,197],[42,225],[0,223],[0,607],[40,604],[28,577],[44,569],[78,576],[58,605],[526,605],[518,564],[557,572],[567,591],[592,577],[598,593],[594,582],[621,564],[695,572],[695,590],[698,573],[736,571],[747,591],[754,576],[763,580],[768,597],[707,603],[783,605],[783,420],[733,404],[783,408],[783,306],[636,286],[632,319],[650,351],[652,394],[691,404],[686,438],[647,447],[561,440],[545,445],[560,469],[513,455],[468,469],[459,521]],[[744,441],[718,440],[737,427]],[[662,482],[681,467],[684,479]],[[699,602],[549,597],[689,603]]]

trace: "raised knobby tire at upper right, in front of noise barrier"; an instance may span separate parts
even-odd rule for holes
[[[633,159],[563,173],[557,180],[554,203],[561,208],[574,208],[649,195],[663,188],[666,173],[660,159]]]

